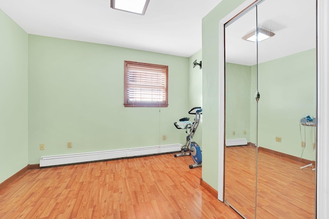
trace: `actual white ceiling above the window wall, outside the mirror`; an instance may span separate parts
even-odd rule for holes
[[[145,15],[110,0],[0,0],[27,33],[189,57],[202,48],[202,18],[222,0],[150,0]]]

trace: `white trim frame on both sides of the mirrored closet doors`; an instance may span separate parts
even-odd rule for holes
[[[224,146],[225,146],[225,24],[234,16],[254,4],[246,0],[221,19],[219,25],[219,121],[218,121],[218,200],[224,202]],[[316,216],[329,215],[329,3],[317,0],[317,170],[316,170]]]

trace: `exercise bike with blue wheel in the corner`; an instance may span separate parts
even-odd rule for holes
[[[189,114],[195,115],[194,122],[190,122],[190,118],[184,117],[179,120],[179,122],[175,122],[174,126],[177,129],[186,129],[186,143],[181,147],[180,153],[175,154],[175,157],[178,156],[189,156],[192,155],[192,159],[195,164],[189,165],[190,169],[195,167],[202,166],[202,153],[199,145],[196,142],[192,142],[193,135],[197,129],[197,126],[200,122],[200,115],[202,114],[201,107],[193,107],[190,109]]]

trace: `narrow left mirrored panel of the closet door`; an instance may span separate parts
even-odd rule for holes
[[[250,10],[225,29],[225,202],[249,218],[255,215],[257,159],[256,132],[250,130],[251,124],[255,129],[257,114],[252,104],[255,99],[251,98],[257,90],[251,83],[256,68],[250,64],[257,63],[257,45],[241,42],[236,31],[255,30],[255,12],[255,8]],[[245,19],[254,22],[246,26]]]

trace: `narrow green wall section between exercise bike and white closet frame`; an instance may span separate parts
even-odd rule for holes
[[[243,0],[223,0],[202,19],[203,180],[218,188],[219,27],[220,21]]]

